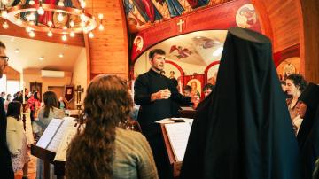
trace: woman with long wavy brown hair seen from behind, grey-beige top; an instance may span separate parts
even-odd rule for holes
[[[132,105],[121,78],[98,75],[90,82],[85,114],[67,150],[66,178],[158,178],[146,138],[118,127]]]

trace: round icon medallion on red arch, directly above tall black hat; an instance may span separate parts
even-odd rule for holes
[[[236,13],[236,23],[238,27],[249,28],[257,21],[257,15],[253,4],[241,6]]]

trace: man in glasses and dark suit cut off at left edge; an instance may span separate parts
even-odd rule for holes
[[[0,41],[0,78],[4,75],[4,69],[8,66],[9,58],[5,55],[5,45]],[[11,154],[6,145],[6,117],[4,103],[0,103],[0,174],[2,178],[13,179]]]

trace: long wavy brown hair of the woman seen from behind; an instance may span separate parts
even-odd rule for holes
[[[78,133],[67,150],[66,178],[112,178],[115,127],[126,121],[132,106],[120,77],[103,74],[90,82]]]

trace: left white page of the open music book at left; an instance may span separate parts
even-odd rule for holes
[[[51,142],[52,137],[58,130],[59,125],[62,120],[52,119],[47,128],[45,128],[43,135],[40,137],[39,141],[36,143],[36,146],[39,146],[43,149],[46,149]]]

